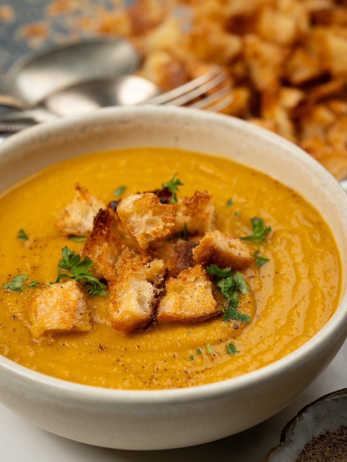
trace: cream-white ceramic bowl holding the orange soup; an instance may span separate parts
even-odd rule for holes
[[[343,265],[341,303],[312,339],[285,358],[223,382],[170,390],[117,390],[71,383],[0,357],[0,401],[49,432],[119,449],[206,443],[268,419],[334,358],[347,335],[347,196],[297,146],[229,116],[182,108],[108,108],[45,123],[0,146],[4,189],[38,169],[103,149],[166,146],[250,165],[303,195],[329,223]]]

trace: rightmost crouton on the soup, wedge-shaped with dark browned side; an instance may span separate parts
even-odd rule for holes
[[[255,260],[247,246],[235,237],[221,231],[209,231],[193,249],[193,258],[202,266],[216,265],[219,268],[241,269]]]

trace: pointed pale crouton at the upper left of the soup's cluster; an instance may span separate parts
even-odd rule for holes
[[[75,189],[73,200],[67,204],[61,217],[55,222],[55,227],[64,234],[88,236],[93,229],[95,215],[105,205],[79,184],[76,184]]]

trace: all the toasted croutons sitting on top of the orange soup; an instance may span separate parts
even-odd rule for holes
[[[55,223],[65,235],[88,236],[81,256],[110,292],[110,323],[122,333],[150,322],[199,322],[222,314],[208,265],[238,270],[255,260],[240,239],[214,229],[207,191],[169,203],[166,188],[131,194],[106,207],[76,185]],[[91,328],[87,292],[73,280],[38,289],[28,312],[35,338]]]

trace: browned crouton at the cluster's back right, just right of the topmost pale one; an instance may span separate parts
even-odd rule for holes
[[[179,200],[176,211],[176,231],[184,230],[187,223],[189,234],[204,235],[214,228],[214,206],[207,191],[195,191],[192,197]]]

